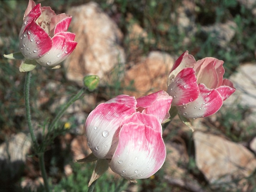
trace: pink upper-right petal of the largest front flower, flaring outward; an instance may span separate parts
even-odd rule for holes
[[[153,114],[160,123],[170,117],[172,97],[165,91],[158,91],[153,94],[137,98],[137,107],[139,111],[146,114]],[[137,111],[138,111],[137,110]]]

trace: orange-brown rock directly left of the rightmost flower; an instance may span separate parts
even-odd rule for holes
[[[132,86],[134,91],[125,90],[124,94],[135,97],[144,96],[159,90],[167,90],[167,78],[174,64],[171,55],[153,51],[148,57],[134,64],[125,75],[125,86]]]

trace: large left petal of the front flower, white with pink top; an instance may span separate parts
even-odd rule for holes
[[[136,111],[134,97],[117,97],[117,101],[120,99],[121,102],[112,100],[111,103],[101,103],[89,114],[86,120],[84,129],[88,146],[97,158],[112,158],[118,143],[121,121]],[[129,103],[125,101],[129,101]]]

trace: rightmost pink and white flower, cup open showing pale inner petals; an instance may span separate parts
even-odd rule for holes
[[[184,52],[175,62],[168,79],[172,106],[187,118],[207,117],[217,112],[235,88],[223,79],[223,61],[212,57],[196,61]]]

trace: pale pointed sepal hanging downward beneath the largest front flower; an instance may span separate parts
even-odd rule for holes
[[[92,172],[91,179],[89,181],[88,187],[97,180],[103,173],[105,173],[108,170],[108,160],[107,159],[98,159],[94,168],[94,171]]]

